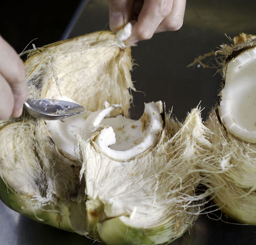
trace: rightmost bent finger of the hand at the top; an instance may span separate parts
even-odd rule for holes
[[[155,33],[177,31],[183,24],[186,0],[173,0],[172,11],[157,27]]]

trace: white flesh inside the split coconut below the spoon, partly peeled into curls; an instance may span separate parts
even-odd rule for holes
[[[79,153],[76,135],[87,140],[101,127],[94,140],[99,150],[111,159],[125,161],[155,144],[163,125],[161,106],[162,102],[145,103],[140,120],[132,120],[123,115],[105,118],[120,107],[106,102],[105,109],[85,111],[65,120],[46,121],[46,127],[60,149],[75,158]]]

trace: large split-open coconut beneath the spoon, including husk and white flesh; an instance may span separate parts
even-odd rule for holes
[[[30,50],[28,98],[75,101],[85,111],[0,122],[0,197],[31,219],[107,244],[170,242],[202,210],[197,168],[208,129],[199,108],[180,123],[162,101],[130,119],[131,49],[122,46],[96,32]]]

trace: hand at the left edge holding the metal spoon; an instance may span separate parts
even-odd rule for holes
[[[0,120],[19,117],[27,94],[24,64],[0,36]]]

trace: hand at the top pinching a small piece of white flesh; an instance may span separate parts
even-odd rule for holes
[[[125,41],[132,45],[150,39],[154,33],[176,31],[183,24],[186,0],[107,0],[109,25],[117,32],[133,21],[131,36]]]

